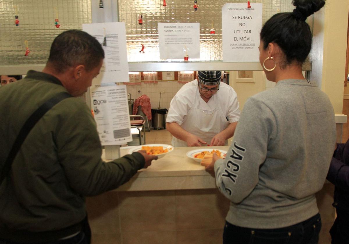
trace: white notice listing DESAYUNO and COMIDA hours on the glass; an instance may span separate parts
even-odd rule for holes
[[[158,23],[160,59],[200,58],[200,23]]]

